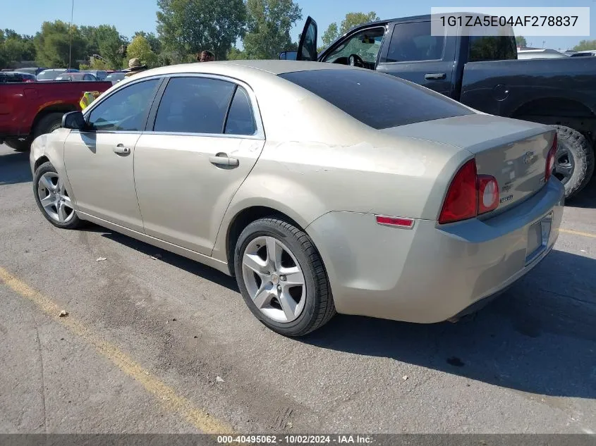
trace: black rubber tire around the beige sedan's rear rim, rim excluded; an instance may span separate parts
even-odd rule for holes
[[[280,323],[265,316],[253,303],[243,278],[242,256],[248,244],[256,237],[274,237],[284,243],[298,260],[305,279],[304,309],[296,320]],[[279,218],[261,218],[250,223],[238,237],[234,249],[234,271],[238,288],[250,311],[265,326],[284,336],[298,337],[324,326],[335,315],[335,305],[327,272],[315,244],[296,226]]]

